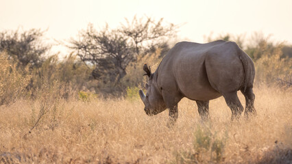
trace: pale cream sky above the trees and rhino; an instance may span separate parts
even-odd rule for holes
[[[182,25],[180,40],[204,42],[211,32],[250,36],[262,31],[292,44],[292,0],[0,0],[0,31],[48,29],[48,40],[69,40],[88,23],[114,29],[135,14]]]

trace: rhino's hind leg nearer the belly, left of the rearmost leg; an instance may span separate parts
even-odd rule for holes
[[[241,101],[239,100],[239,97],[237,96],[237,92],[229,92],[226,94],[223,94],[226,103],[228,107],[231,109],[231,120],[234,120],[234,118],[238,119],[243,112],[243,106],[241,105]]]

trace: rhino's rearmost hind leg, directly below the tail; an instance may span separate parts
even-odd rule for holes
[[[249,118],[250,115],[256,115],[256,109],[254,108],[254,92],[252,87],[247,87],[244,91],[241,89],[241,93],[245,96],[245,118]]]

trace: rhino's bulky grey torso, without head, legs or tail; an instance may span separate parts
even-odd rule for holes
[[[236,81],[240,83],[242,80],[244,72],[235,51],[234,46],[223,40],[207,44],[180,42],[162,60],[158,69],[158,84],[173,94],[182,94],[192,100],[218,98],[222,93],[218,90],[218,86],[221,86],[219,83],[230,80],[228,78],[234,76],[234,71],[240,72],[237,74],[240,78]],[[221,58],[221,64],[214,64],[218,59],[212,55]],[[231,67],[228,66],[230,63],[233,63]],[[236,70],[228,74],[234,65],[237,66]],[[222,72],[227,72],[227,79],[222,78]]]

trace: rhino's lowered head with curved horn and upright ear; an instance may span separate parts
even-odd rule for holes
[[[139,90],[139,95],[141,100],[145,105],[144,111],[147,115],[156,115],[165,109],[167,109],[165,102],[163,100],[161,90],[159,90],[156,79],[157,77],[151,73],[150,67],[145,64],[143,70],[146,72],[147,77],[149,78],[148,83],[146,83],[145,88],[147,90],[146,95],[143,90]]]

